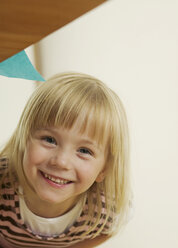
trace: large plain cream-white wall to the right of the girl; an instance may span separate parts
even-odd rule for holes
[[[101,247],[178,247],[177,0],[110,0],[40,42],[42,74],[80,71],[128,113],[135,215]]]

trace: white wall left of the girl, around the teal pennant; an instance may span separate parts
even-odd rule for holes
[[[25,51],[33,63],[33,47]],[[13,133],[34,87],[34,81],[0,76],[0,148]]]

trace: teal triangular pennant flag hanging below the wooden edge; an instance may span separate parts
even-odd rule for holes
[[[0,75],[12,78],[45,81],[30,62],[25,51],[21,51],[1,62]]]

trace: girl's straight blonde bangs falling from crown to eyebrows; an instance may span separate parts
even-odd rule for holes
[[[48,85],[39,89],[33,99],[34,106],[31,105],[30,133],[47,126],[70,129],[77,124],[81,133],[86,133],[98,144],[106,143],[112,129],[112,111],[107,97],[96,82],[89,79],[86,82],[77,79],[77,82],[71,80],[70,84],[65,81],[56,84],[49,81]]]

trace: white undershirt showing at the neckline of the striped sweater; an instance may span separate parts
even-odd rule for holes
[[[20,214],[26,226],[28,226],[34,234],[57,236],[72,226],[75,220],[80,216],[85,200],[86,197],[81,198],[69,212],[62,216],[43,218],[32,213],[27,207],[24,198],[20,197]]]

